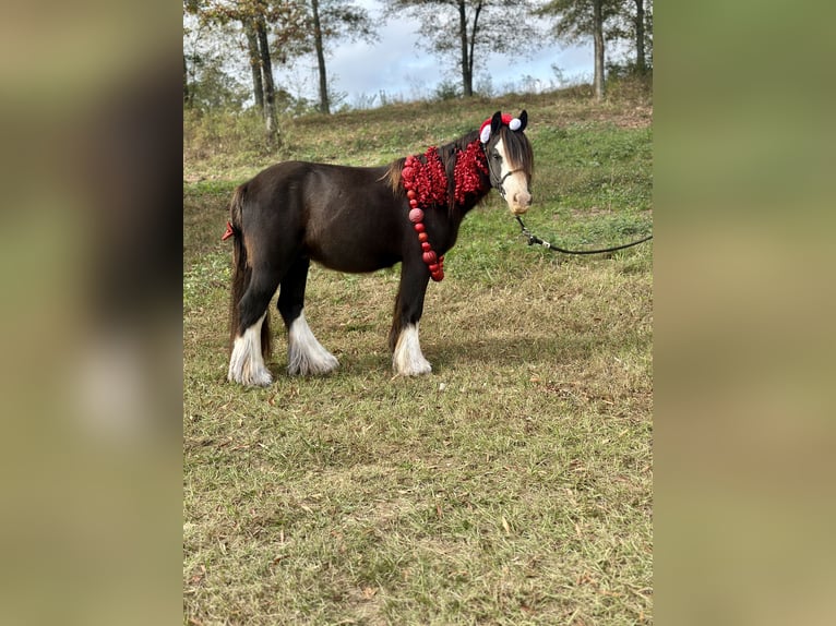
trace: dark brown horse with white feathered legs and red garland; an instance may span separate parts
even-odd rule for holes
[[[397,374],[431,371],[421,353],[418,322],[427,285],[441,280],[443,254],[464,216],[491,186],[514,214],[532,204],[534,156],[518,118],[499,111],[473,131],[425,155],[386,167],[360,168],[287,161],[236,189],[224,236],[235,238],[229,381],[270,385],[270,301],[288,330],[291,375],[337,366],[304,321],[311,260],[362,273],[401,262],[401,287],[389,335]]]

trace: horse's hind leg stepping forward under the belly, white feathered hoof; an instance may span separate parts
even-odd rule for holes
[[[326,374],[339,363],[313,336],[304,320],[304,288],[310,260],[299,257],[282,279],[278,312],[287,326],[287,373],[291,376]]]

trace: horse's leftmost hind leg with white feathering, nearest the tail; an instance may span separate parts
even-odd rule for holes
[[[279,277],[275,269],[265,266],[256,266],[252,270],[247,291],[238,303],[239,322],[229,358],[229,381],[260,386],[273,382],[262,354],[262,325],[270,300],[278,288]]]

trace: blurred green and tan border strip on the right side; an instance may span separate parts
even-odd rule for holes
[[[656,7],[660,624],[836,619],[833,13]]]

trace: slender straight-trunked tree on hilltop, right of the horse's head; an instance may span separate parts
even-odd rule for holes
[[[557,17],[552,32],[558,39],[576,43],[592,36],[595,47],[595,98],[604,98],[605,24],[616,15],[619,0],[550,0],[536,11]]]

